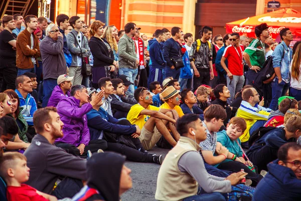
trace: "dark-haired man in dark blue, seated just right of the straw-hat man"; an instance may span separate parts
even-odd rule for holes
[[[197,98],[193,94],[193,92],[189,88],[185,88],[181,91],[181,100],[182,105],[181,109],[183,113],[186,114],[197,114],[200,116],[200,119],[204,121],[204,112],[197,106],[194,106],[194,104],[197,103]]]

